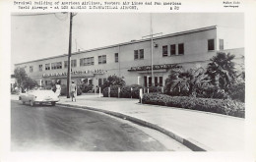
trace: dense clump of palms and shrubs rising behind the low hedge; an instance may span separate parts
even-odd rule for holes
[[[234,55],[221,52],[211,59],[207,70],[172,70],[165,80],[164,94],[244,102],[245,74],[237,72],[234,58]]]

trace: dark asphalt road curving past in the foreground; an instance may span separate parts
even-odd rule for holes
[[[11,102],[12,151],[167,151],[126,122],[93,111]]]

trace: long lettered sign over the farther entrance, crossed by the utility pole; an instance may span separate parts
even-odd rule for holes
[[[92,74],[92,75],[103,75],[105,73],[104,70],[96,69],[96,70],[86,70],[86,71],[73,71],[71,75],[83,75],[83,74]],[[43,78],[47,77],[63,77],[68,76],[67,72],[62,73],[51,73],[51,74],[43,74]]]

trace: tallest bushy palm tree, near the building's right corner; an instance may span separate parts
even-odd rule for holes
[[[232,62],[234,57],[230,53],[219,52],[208,64],[207,74],[217,87],[227,89],[234,81],[236,77],[234,62]]]

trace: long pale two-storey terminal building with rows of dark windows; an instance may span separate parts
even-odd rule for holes
[[[126,84],[164,86],[171,68],[176,65],[184,69],[206,68],[219,51],[235,55],[237,65],[243,64],[243,30],[202,27],[74,52],[71,80],[98,86],[108,76],[116,75]],[[15,64],[17,67],[25,68],[28,76],[41,86],[56,80],[67,83],[67,54]]]

